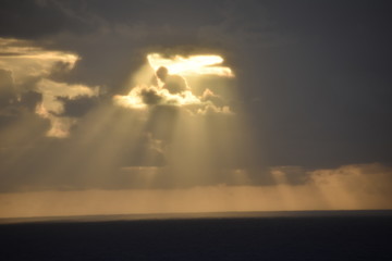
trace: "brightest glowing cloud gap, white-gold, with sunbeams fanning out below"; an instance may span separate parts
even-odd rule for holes
[[[222,97],[207,87],[199,87],[204,91],[197,96],[194,92],[195,86],[188,86],[186,79],[188,76],[203,78],[207,75],[234,77],[230,67],[217,66],[223,62],[221,57],[206,54],[164,58],[163,54],[150,53],[147,60],[148,65],[134,75],[136,86],[126,96],[114,96],[115,104],[137,110],[150,105],[176,105],[197,114],[232,113]],[[162,70],[166,71],[163,75],[160,72]]]

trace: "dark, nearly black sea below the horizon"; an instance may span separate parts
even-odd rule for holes
[[[391,211],[142,217],[2,221],[0,260],[392,261]]]

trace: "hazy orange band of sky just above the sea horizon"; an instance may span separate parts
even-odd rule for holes
[[[176,212],[391,209],[391,167],[347,165],[308,173],[291,186],[203,186],[188,189],[3,194],[1,217]],[[147,178],[148,171],[143,175]],[[277,173],[274,174],[278,175]],[[279,175],[284,175],[280,173]],[[281,177],[280,177],[281,178]],[[124,203],[126,202],[132,203]]]

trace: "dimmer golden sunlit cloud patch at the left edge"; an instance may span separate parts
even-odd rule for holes
[[[66,137],[70,127],[77,122],[76,119],[60,116],[63,111],[60,98],[98,96],[99,87],[59,83],[50,78],[53,73],[73,70],[78,60],[77,54],[46,50],[28,40],[0,38],[0,70],[9,75],[9,92],[19,100],[26,94],[40,97],[36,99],[40,101],[35,113],[50,121],[49,137]]]

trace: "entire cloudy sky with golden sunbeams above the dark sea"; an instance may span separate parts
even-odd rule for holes
[[[2,1],[0,216],[391,209],[391,8]]]

